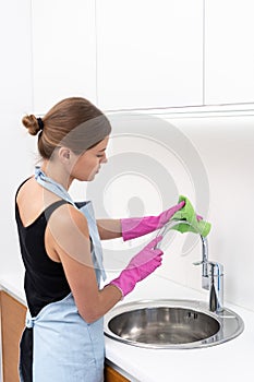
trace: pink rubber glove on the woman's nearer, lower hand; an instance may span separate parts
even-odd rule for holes
[[[147,277],[161,265],[161,255],[164,252],[160,249],[155,249],[161,239],[162,236],[158,236],[152,240],[141,252],[132,258],[119,277],[109,283],[109,285],[114,285],[121,290],[122,297],[130,294],[136,283]]]

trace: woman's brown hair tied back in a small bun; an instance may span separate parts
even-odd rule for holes
[[[107,117],[89,100],[70,97],[55,105],[43,118],[25,116],[22,123],[32,135],[38,135],[38,151],[49,159],[56,147],[66,146],[80,155],[111,132]]]

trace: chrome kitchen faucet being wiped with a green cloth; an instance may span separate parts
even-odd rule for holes
[[[168,229],[180,224],[191,223],[186,220],[171,220],[158,235],[165,235]],[[208,261],[208,241],[207,238],[199,235],[202,240],[202,261],[193,263],[202,265],[202,288],[209,290],[209,310],[220,313],[223,311],[223,266],[217,262]]]

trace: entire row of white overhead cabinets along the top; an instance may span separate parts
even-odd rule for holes
[[[253,0],[32,4],[34,112],[254,103]]]

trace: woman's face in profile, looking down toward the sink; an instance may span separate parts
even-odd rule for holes
[[[106,148],[108,141],[109,136],[106,136],[97,145],[77,156],[71,171],[71,177],[82,181],[93,180],[96,174],[99,172],[101,164],[107,163]]]

